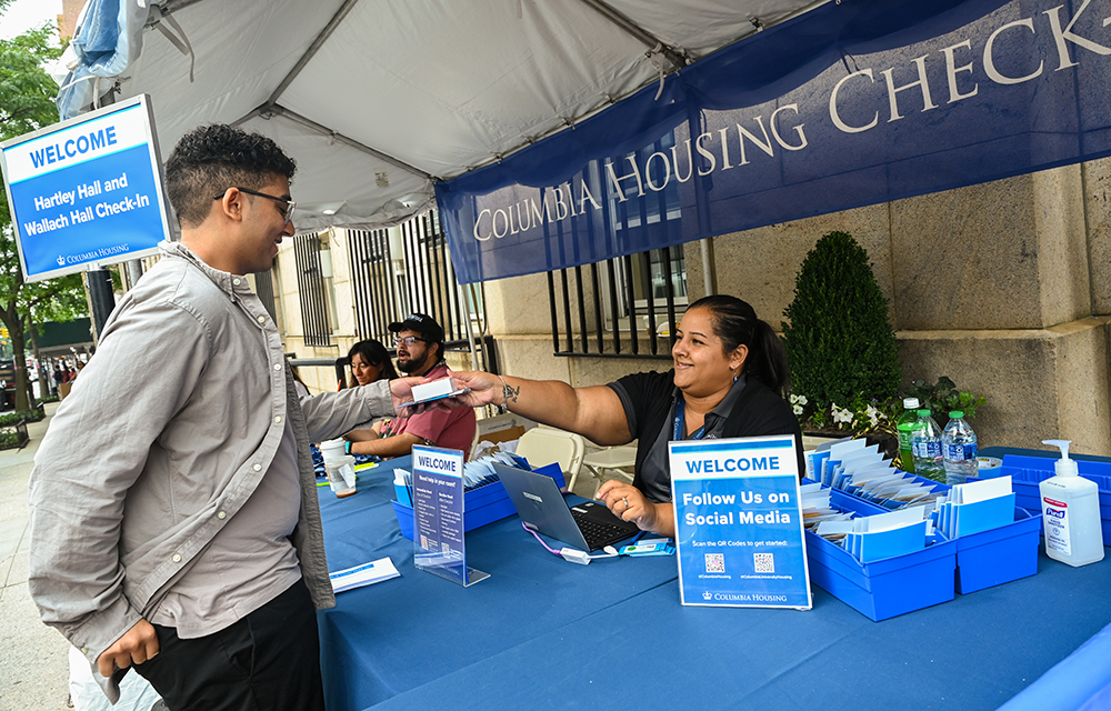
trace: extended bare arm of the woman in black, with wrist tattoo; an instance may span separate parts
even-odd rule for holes
[[[499,377],[477,370],[452,377],[460,388],[471,390],[459,395],[462,404],[504,404],[517,414],[575,432],[603,447],[632,441],[621,399],[605,385],[572,388],[560,380]]]

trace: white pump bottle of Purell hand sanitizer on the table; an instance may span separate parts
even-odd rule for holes
[[[1079,475],[1077,462],[1069,459],[1070,440],[1042,444],[1061,448],[1055,475],[1039,484],[1045,554],[1073,568],[1103,560],[1099,487]]]

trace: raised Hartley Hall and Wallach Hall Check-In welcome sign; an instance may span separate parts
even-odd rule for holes
[[[146,94],[0,144],[27,281],[138,259],[169,237]]]

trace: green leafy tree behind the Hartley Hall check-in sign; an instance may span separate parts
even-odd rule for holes
[[[0,17],[12,0],[0,0]],[[28,30],[11,40],[0,40],[0,140],[29,133],[58,122],[54,97],[58,84],[43,64],[57,59],[61,49],[50,39],[49,24]],[[8,196],[0,192],[0,323],[11,337],[16,360],[16,409],[29,409],[27,397],[27,329],[43,319],[69,320],[87,311],[80,274],[28,283],[19,266],[16,232]]]

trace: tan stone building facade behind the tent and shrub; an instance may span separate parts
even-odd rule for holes
[[[778,330],[809,250],[830,231],[849,232],[890,301],[904,380],[949,375],[988,398],[973,421],[981,447],[1040,448],[1060,438],[1078,452],[1111,454],[1109,193],[1111,159],[725,234],[712,240],[717,289],[752,303]],[[340,234],[329,240],[338,320],[330,348],[299,339],[291,247],[279,256],[287,350],[299,357],[336,358],[354,340]],[[700,246],[684,254],[693,301],[705,292]],[[502,372],[588,385],[669,367],[553,356],[546,274],[483,290]],[[453,359],[469,365],[466,356]],[[333,388],[331,373],[318,370],[307,373],[310,384]]]

